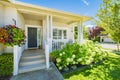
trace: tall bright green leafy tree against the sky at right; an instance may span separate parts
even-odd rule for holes
[[[98,21],[105,29],[108,35],[120,43],[120,1],[119,0],[102,0],[100,9],[97,13]]]

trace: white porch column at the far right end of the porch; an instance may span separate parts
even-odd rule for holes
[[[78,42],[79,44],[83,43],[83,27],[82,27],[82,21],[78,23]]]

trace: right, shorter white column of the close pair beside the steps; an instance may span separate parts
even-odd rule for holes
[[[53,20],[52,20],[52,16],[50,16],[49,17],[49,30],[50,30],[50,35],[49,35],[49,37],[50,37],[50,44],[49,44],[49,47],[50,47],[50,52],[52,52],[52,38],[53,38],[53,26],[52,26],[52,22],[53,22]]]

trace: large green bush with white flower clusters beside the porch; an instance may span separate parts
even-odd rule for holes
[[[88,41],[85,44],[67,43],[63,49],[54,51],[51,56],[55,58],[59,70],[66,69],[75,64],[89,65],[98,62],[107,56],[107,52],[98,44]]]

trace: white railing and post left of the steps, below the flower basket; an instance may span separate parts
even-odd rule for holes
[[[19,65],[19,61],[21,59],[22,53],[25,49],[25,45],[21,45],[20,47],[18,45],[15,45],[13,48],[13,54],[14,54],[14,71],[13,71],[13,75],[17,75],[18,74],[18,65]]]

